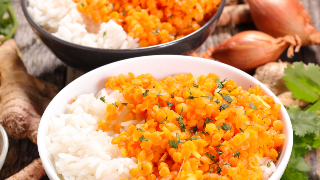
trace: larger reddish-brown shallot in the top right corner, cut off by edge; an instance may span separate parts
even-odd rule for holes
[[[320,44],[309,13],[298,0],[248,0],[255,26],[273,37],[298,35],[302,45]]]

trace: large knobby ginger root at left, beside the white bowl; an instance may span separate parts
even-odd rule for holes
[[[0,44],[0,123],[14,138],[37,143],[41,116],[58,87],[30,76],[13,39]]]

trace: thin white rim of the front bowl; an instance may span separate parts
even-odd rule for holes
[[[227,64],[224,64],[224,63],[221,63],[221,62],[218,62],[218,61],[212,61],[212,60],[208,60],[208,59],[203,59],[203,58],[198,58],[198,57],[192,57],[192,56],[182,56],[182,55],[153,55],[153,56],[141,56],[141,57],[135,57],[135,58],[130,58],[130,59],[126,59],[126,60],[121,60],[121,61],[116,61],[116,62],[113,62],[113,63],[110,63],[110,64],[107,64],[107,65],[104,65],[104,66],[101,66],[100,68],[97,68],[97,69],[94,69],[84,75],[82,75],[81,77],[77,78],[76,80],[72,81],[70,84],[68,84],[65,88],[63,88],[53,99],[52,101],[49,103],[48,107],[50,107],[51,103],[55,102],[55,101],[59,101],[57,98],[59,97],[59,94],[64,94],[65,92],[68,91],[68,88],[71,86],[74,86],[76,85],[77,83],[79,82],[82,82],[82,79],[86,79],[86,78],[89,78],[89,77],[92,77],[94,76],[96,73],[99,73],[101,71],[104,71],[106,69],[109,69],[109,68],[112,68],[112,67],[116,67],[116,66],[121,66],[123,64],[126,64],[128,62],[134,62],[134,61],[139,61],[140,59],[141,60],[156,60],[155,57],[157,56],[161,56],[162,59],[165,59],[165,58],[172,58],[172,59],[178,59],[178,58],[181,58],[183,57],[184,60],[188,60],[188,61],[197,61],[197,62],[201,62],[201,63],[211,63],[212,65],[219,65],[219,66],[224,66],[226,67],[226,69],[228,69],[229,71],[235,71],[236,74],[242,74],[246,79],[250,79],[253,83],[255,84],[259,84],[261,86],[261,89],[263,89],[264,93],[265,94],[269,94],[269,95],[272,95],[275,99],[275,102],[276,103],[280,103],[281,104],[281,110],[279,111],[281,114],[282,114],[282,118],[283,118],[283,121],[287,124],[287,136],[286,136],[286,139],[285,141],[286,142],[286,148],[285,148],[285,151],[281,151],[281,155],[283,155],[283,157],[281,157],[281,161],[279,161],[279,165],[277,165],[277,169],[276,171],[270,176],[270,180],[271,179],[280,179],[282,174],[284,173],[284,170],[285,168],[287,167],[287,164],[289,162],[289,159],[290,159],[290,155],[291,155],[291,151],[292,151],[292,144],[293,144],[293,130],[292,130],[292,124],[291,124],[291,121],[290,121],[290,118],[289,118],[289,115],[287,113],[287,111],[285,110],[283,104],[280,102],[280,100],[276,97],[275,94],[273,94],[271,92],[271,90],[269,90],[264,84],[262,84],[259,80],[253,78],[251,75],[245,73],[244,71],[242,70],[239,70],[235,67],[232,67],[230,65],[227,65]],[[42,117],[45,117],[47,116],[46,114],[52,114],[52,111],[51,110],[48,110],[46,109],[44,111],[44,114]],[[51,115],[50,115],[51,116]],[[48,119],[46,119],[48,120]],[[59,180],[60,178],[55,174],[54,172],[54,169],[52,169],[51,165],[49,164],[49,160],[47,158],[47,148],[46,148],[46,143],[44,141],[44,129],[45,128],[48,128],[48,127],[42,127],[44,126],[44,121],[46,121],[44,119],[41,119],[40,121],[40,124],[39,124],[39,129],[38,129],[38,137],[37,137],[37,144],[38,144],[38,151],[39,151],[39,155],[40,155],[40,158],[42,160],[42,163],[44,165],[44,168],[46,170],[46,173],[48,174],[48,176],[52,176],[54,180]]]

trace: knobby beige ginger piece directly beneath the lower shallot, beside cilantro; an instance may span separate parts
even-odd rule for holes
[[[292,64],[281,60],[279,62],[269,62],[258,67],[253,77],[266,85],[275,95],[281,94],[288,90],[283,79],[285,76],[284,68],[287,65]]]

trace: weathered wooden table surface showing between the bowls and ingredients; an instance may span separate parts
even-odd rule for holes
[[[320,30],[320,0],[301,0],[305,8],[311,15],[316,29]],[[81,76],[83,72],[75,70],[60,61],[52,52],[36,37],[23,15],[20,0],[13,0],[12,7],[18,20],[18,29],[14,39],[20,49],[22,61],[24,62],[29,74],[48,81],[60,89],[68,83]],[[207,39],[198,53],[207,50],[208,46],[218,45],[224,39],[244,31],[255,30],[255,26],[244,24],[232,27],[217,27],[212,35]],[[302,47],[299,53],[296,53],[293,59],[286,57],[284,52],[280,59],[282,61],[304,61],[305,63],[313,62],[320,64],[320,46],[312,45]],[[27,166],[32,160],[39,157],[37,145],[29,139],[14,139],[9,137],[9,151],[0,170],[0,180],[4,180],[13,174],[19,172]],[[311,180],[319,180],[320,176],[320,150],[313,149],[305,156],[306,162],[311,166],[309,173]],[[43,180],[48,180],[45,176]]]

